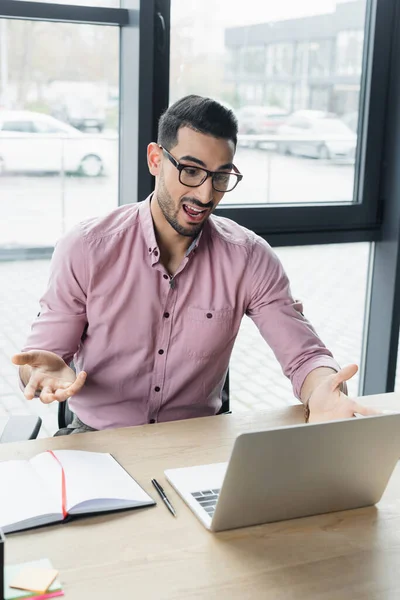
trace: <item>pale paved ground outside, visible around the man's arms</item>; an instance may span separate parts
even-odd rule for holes
[[[341,364],[359,362],[364,319],[369,245],[277,249],[294,296]],[[0,263],[0,417],[31,412],[43,420],[41,437],[57,429],[57,404],[23,397],[10,361],[24,344],[48,276],[49,262]],[[231,359],[231,408],[256,410],[296,402],[290,383],[254,324],[244,318]],[[358,378],[350,384],[357,394]]]

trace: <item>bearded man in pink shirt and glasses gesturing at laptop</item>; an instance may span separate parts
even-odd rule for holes
[[[236,141],[230,110],[179,100],[147,149],[152,196],[81,223],[57,244],[40,315],[13,362],[27,399],[71,398],[76,417],[60,433],[216,414],[244,314],[311,419],[371,412],[340,391],[357,367],[338,367],[269,245],[212,216],[242,178]]]

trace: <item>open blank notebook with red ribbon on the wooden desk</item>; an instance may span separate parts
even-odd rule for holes
[[[42,452],[0,462],[0,528],[4,533],[69,516],[139,506],[154,500],[108,453]]]

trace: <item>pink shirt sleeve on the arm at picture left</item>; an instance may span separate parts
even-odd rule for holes
[[[69,364],[87,324],[87,252],[75,227],[56,245],[47,290],[23,351],[49,350]]]

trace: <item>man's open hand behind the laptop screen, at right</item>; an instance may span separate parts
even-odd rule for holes
[[[310,409],[309,423],[349,419],[354,413],[361,415],[377,415],[379,411],[358,404],[340,391],[340,384],[351,379],[358,371],[357,365],[348,365],[338,373],[324,377],[313,390],[308,407]]]

